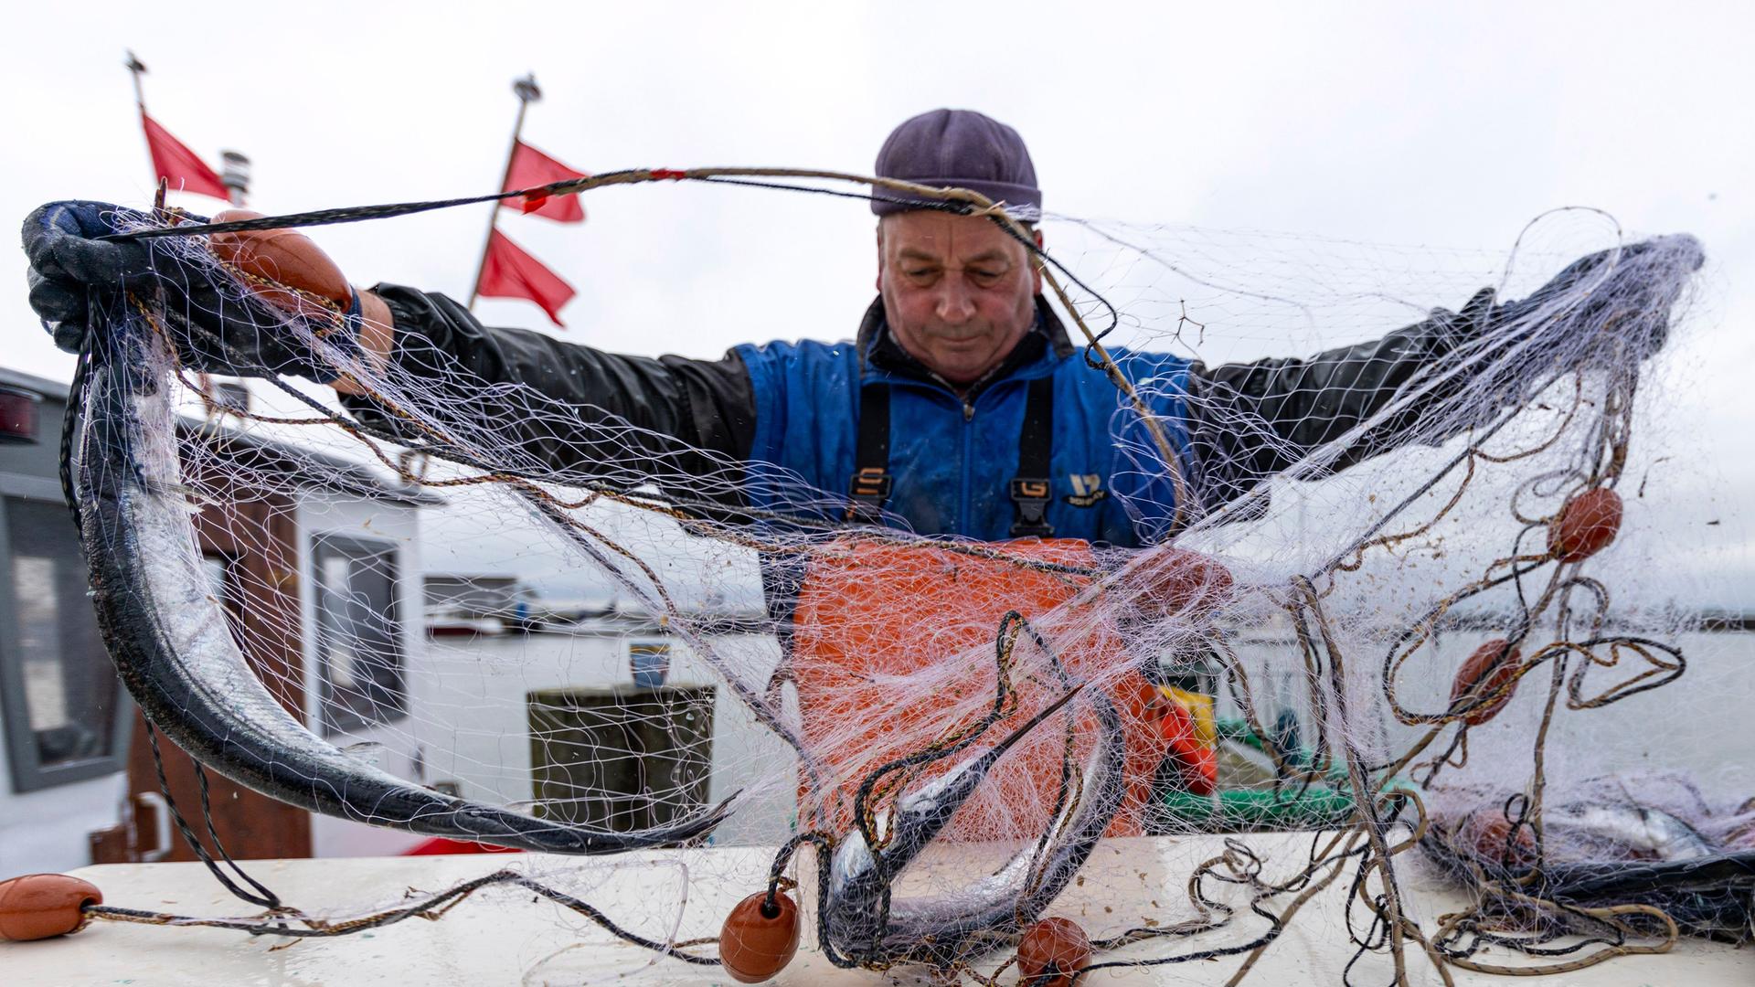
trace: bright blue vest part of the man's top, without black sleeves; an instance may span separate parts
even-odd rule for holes
[[[1032,337],[993,376],[960,397],[900,353],[874,304],[855,342],[739,346],[755,392],[746,457],[758,508],[807,511],[806,490],[846,495],[860,432],[860,386],[890,385],[893,492],[886,523],[918,534],[979,541],[1009,537],[1011,479],[1028,383],[1053,379],[1051,501],[1055,537],[1135,546],[1167,534],[1176,511],[1165,465],[1144,423],[1102,371],[1085,362],[1055,314],[1041,306]],[[1111,351],[1130,381],[1150,381],[1148,402],[1185,448],[1188,362]],[[834,509],[834,508],[828,508]]]

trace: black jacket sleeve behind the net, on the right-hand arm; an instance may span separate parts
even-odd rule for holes
[[[1299,462],[1383,407],[1420,367],[1476,339],[1494,316],[1494,292],[1481,290],[1460,313],[1432,318],[1374,342],[1329,349],[1307,358],[1206,367],[1188,374],[1188,436],[1193,479],[1206,509],[1237,499],[1262,478]],[[1413,441],[1437,443],[1462,429],[1434,430],[1422,413],[1453,393],[1437,388],[1420,406],[1385,421],[1348,448],[1332,469],[1344,469]]]

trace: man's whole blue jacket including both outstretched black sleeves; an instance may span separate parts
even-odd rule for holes
[[[495,434],[544,464],[560,483],[621,490],[658,485],[704,516],[760,520],[783,511],[841,522],[856,465],[860,385],[890,385],[892,494],[886,523],[981,541],[1011,536],[1011,479],[1032,381],[1053,381],[1046,520],[1058,537],[1114,546],[1169,534],[1176,495],[1169,467],[1123,395],[1085,362],[1041,300],[1034,330],[965,397],[935,379],[890,337],[872,302],[853,342],[739,346],[721,360],[627,357],[546,334],[483,327],[455,300],[381,285],[397,320],[393,358],[435,390],[428,411]],[[1458,313],[1381,339],[1304,358],[1206,367],[1113,349],[1176,446],[1199,504],[1227,504],[1369,418],[1420,367],[1483,332],[1497,313],[1478,292]],[[441,372],[442,369],[442,372]],[[462,369],[463,372],[458,372]],[[483,388],[518,385],[516,388]],[[1462,386],[1434,390],[1444,400]],[[444,388],[456,385],[455,395]],[[370,399],[342,399],[365,423],[398,418]],[[548,404],[549,409],[544,406]],[[1423,409],[1385,421],[1336,458],[1343,469],[1418,434]],[[1453,416],[1453,429],[1465,425]],[[634,425],[630,430],[627,425]],[[416,436],[418,439],[418,436]],[[1032,444],[1032,450],[1035,446]]]

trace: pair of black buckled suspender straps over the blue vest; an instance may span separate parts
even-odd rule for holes
[[[1053,537],[1055,379],[1030,381],[1018,430],[1018,474],[1011,479],[1011,537]],[[890,476],[890,385],[860,386],[860,434],[846,520],[876,523],[893,486]]]

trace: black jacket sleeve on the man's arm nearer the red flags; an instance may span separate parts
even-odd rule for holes
[[[374,292],[395,316],[391,362],[432,388],[421,409],[441,425],[463,436],[490,429],[495,443],[519,450],[556,479],[620,488],[686,483],[691,495],[735,502],[737,472],[728,467],[742,464],[755,437],[755,393],[735,353],[721,360],[621,357],[539,332],[484,327],[446,295],[397,285]],[[342,402],[404,439],[432,439],[374,399],[344,395]]]

